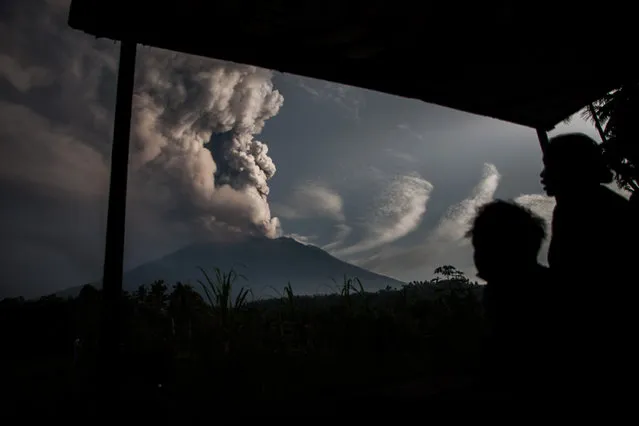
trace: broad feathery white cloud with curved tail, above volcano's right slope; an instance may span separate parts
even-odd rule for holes
[[[396,241],[421,223],[433,185],[418,175],[395,178],[386,188],[378,205],[365,219],[367,236],[334,254],[348,256]]]

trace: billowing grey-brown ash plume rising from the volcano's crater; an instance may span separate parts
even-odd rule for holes
[[[207,228],[277,237],[268,180],[275,164],[254,139],[284,98],[268,70],[158,49],[141,51],[133,117],[134,171],[166,172]],[[228,133],[214,142],[216,134]],[[213,139],[213,140],[212,140]],[[217,173],[217,178],[216,178]]]

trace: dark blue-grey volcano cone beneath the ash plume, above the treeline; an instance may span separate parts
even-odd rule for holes
[[[367,291],[403,284],[395,279],[375,274],[343,262],[315,246],[301,244],[291,238],[249,238],[235,243],[194,244],[161,259],[145,263],[124,274],[123,288],[135,291],[140,285],[164,280],[190,283],[200,290],[197,280],[204,281],[202,267],[214,278],[214,268],[227,272],[234,268],[246,277],[236,288],[252,289],[257,298],[275,296],[290,282],[296,294],[317,294],[336,291],[335,280],[341,284],[344,275],[358,277]],[[64,292],[69,294],[68,291]]]

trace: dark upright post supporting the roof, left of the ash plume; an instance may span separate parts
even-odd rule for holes
[[[100,328],[99,385],[111,399],[117,395],[120,370],[121,296],[124,260],[129,137],[135,76],[136,43],[120,44],[113,146],[111,148],[111,181],[107,214],[104,273],[102,275],[102,312]],[[109,404],[107,401],[103,402]]]

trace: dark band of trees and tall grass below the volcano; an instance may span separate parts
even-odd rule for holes
[[[483,328],[480,286],[452,266],[436,273],[376,293],[352,277],[326,296],[295,296],[288,283],[266,300],[237,287],[232,270],[202,270],[204,297],[182,283],[141,286],[123,296],[124,388],[167,401],[361,394],[417,379],[422,391],[441,389],[468,375]],[[14,367],[5,384],[86,394],[100,299],[86,286],[76,298],[0,302],[3,357]]]

